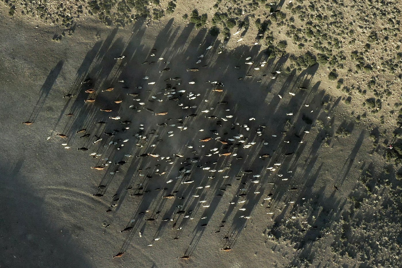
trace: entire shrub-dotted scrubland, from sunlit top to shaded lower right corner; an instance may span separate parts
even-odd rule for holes
[[[398,1],[5,0],[3,5],[15,19],[24,16],[38,25],[58,25],[55,42],[71,38],[83,18],[128,29],[138,21],[148,27],[174,19],[176,24],[206,28],[222,48],[258,47],[268,59],[282,59],[285,74],[314,68],[314,79],[326,90],[323,111],[330,111],[336,101],[343,105],[340,124],[330,116],[314,122],[302,118],[319,134],[314,144],[329,150],[354,136],[357,150],[367,139],[372,147],[359,157],[362,160],[355,159],[357,150],[335,152],[346,157],[343,173],[334,174],[342,180],[330,197],[322,190],[312,192],[299,206],[278,204],[263,236],[275,243],[272,251],[294,250],[295,257],[287,263],[291,267],[320,266],[320,259],[333,267],[400,265],[402,7]],[[357,126],[367,130],[365,136],[353,135]],[[351,179],[355,184],[340,186],[351,168],[359,169],[360,176]],[[295,190],[306,193],[313,185],[310,179],[302,184],[304,189]],[[339,196],[345,189],[349,192]]]

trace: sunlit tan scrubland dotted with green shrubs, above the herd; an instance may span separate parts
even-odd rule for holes
[[[287,72],[318,64],[334,81],[359,121],[366,113],[388,121],[400,93],[402,12],[392,1],[222,1],[159,0],[4,1],[9,15],[59,25],[54,39],[72,35],[80,18],[90,16],[107,25],[130,27],[135,21],[194,23],[232,48],[258,45],[270,58],[287,57]],[[190,6],[197,7],[191,8]],[[242,41],[238,41],[242,39]],[[373,98],[374,105],[373,105]]]

